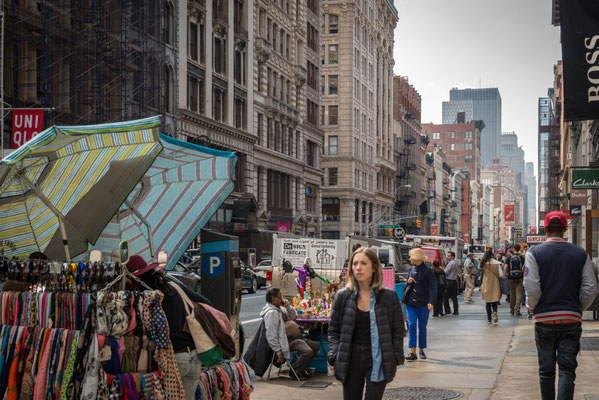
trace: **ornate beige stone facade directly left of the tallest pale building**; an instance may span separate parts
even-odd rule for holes
[[[319,236],[321,4],[256,0],[254,195],[259,228]]]

